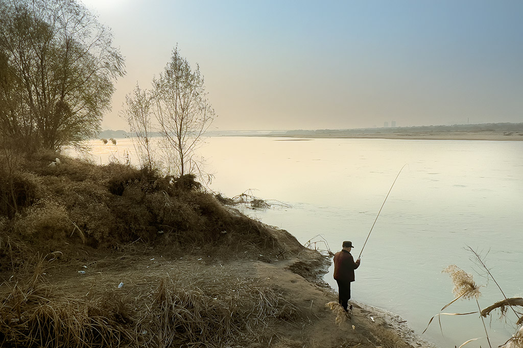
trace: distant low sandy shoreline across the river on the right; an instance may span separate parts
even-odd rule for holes
[[[321,134],[263,134],[243,135],[288,138],[371,138],[411,140],[482,140],[482,141],[523,141],[523,132],[375,132],[375,133],[321,133]]]

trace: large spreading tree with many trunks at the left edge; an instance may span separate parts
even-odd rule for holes
[[[1,131],[25,127],[35,147],[49,149],[98,133],[112,81],[125,73],[110,31],[75,0],[0,0],[2,57],[9,73],[0,91],[20,108],[0,104]]]

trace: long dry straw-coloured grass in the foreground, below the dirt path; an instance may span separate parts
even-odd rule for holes
[[[75,295],[45,284],[44,264],[26,283],[2,285],[0,346],[221,347],[260,340],[274,323],[301,318],[279,289],[224,271],[206,280],[190,276],[194,267],[155,274],[128,291],[100,279],[87,295]]]

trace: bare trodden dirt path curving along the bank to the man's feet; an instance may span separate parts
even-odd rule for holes
[[[265,258],[260,255],[259,259]],[[326,304],[336,302],[337,294],[314,281],[320,264],[317,255],[308,252],[297,258],[274,261],[224,260],[206,254],[177,258],[142,254],[84,263],[49,268],[45,281],[57,296],[92,298],[110,293],[111,298],[128,299],[154,293],[162,280],[187,290],[192,287],[219,294],[211,295],[216,298],[239,293],[245,284],[256,284],[275,289],[275,293],[281,294],[298,312],[293,320],[276,318],[262,323],[255,337],[244,339],[238,347],[432,346],[408,329],[401,317],[356,302],[350,318],[343,316],[343,320],[336,323],[336,309],[331,310]],[[118,287],[120,283],[123,285]]]

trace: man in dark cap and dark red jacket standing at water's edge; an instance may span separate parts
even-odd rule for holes
[[[360,265],[360,258],[354,262],[350,250],[353,248],[351,241],[344,241],[342,251],[334,255],[334,279],[338,283],[339,304],[347,312],[350,299],[350,283],[354,282],[354,270]]]

